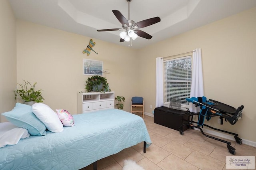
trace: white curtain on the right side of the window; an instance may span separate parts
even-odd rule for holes
[[[193,51],[192,61],[192,83],[190,97],[202,97],[204,95],[204,82],[202,71],[202,57],[201,48],[197,48]],[[200,108],[196,108],[194,104],[189,104],[189,111],[197,113],[200,112]]]

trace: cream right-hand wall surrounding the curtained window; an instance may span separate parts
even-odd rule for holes
[[[230,16],[139,51],[142,75],[140,95],[145,97],[145,111],[155,106],[156,57],[166,57],[202,49],[204,95],[233,107],[244,105],[243,117],[235,125],[209,124],[239,134],[256,142],[256,8]],[[149,94],[150,92],[150,94]]]

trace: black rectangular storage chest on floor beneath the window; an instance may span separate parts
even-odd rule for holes
[[[180,111],[168,107],[157,107],[154,109],[154,122],[174,130],[179,130],[179,127],[188,123],[188,111]],[[183,131],[187,130],[188,126],[183,126]]]

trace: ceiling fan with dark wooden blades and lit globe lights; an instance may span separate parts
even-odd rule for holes
[[[128,20],[121,14],[118,10],[112,10],[116,18],[119,22],[122,24],[122,28],[112,28],[112,29],[104,29],[104,30],[97,30],[99,32],[102,31],[122,31],[120,33],[120,42],[130,42],[130,39],[135,40],[138,36],[146,39],[151,39],[152,36],[150,36],[148,33],[138,30],[138,28],[144,28],[147,26],[150,26],[152,24],[156,24],[161,21],[161,19],[157,16],[154,18],[150,18],[147,20],[143,20],[140,22],[134,22],[133,20],[130,20],[130,2],[132,0],[126,0],[128,2]]]

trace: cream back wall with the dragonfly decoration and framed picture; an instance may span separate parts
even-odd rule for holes
[[[96,45],[90,55],[82,53],[89,37],[54,28],[17,21],[17,82],[37,82],[43,89],[44,103],[52,109],[66,109],[77,114],[77,93],[84,91],[83,59],[104,62],[104,73],[115,96],[124,96],[124,110],[130,111],[130,99],[138,93],[133,83],[138,72],[136,50],[93,38]]]

